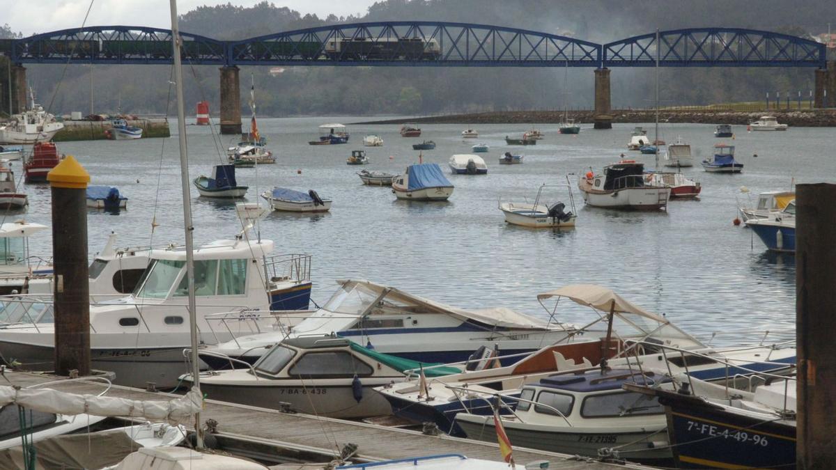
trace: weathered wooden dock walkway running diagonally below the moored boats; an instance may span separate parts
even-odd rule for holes
[[[13,385],[32,386],[55,381],[53,375],[25,372],[5,373]],[[55,390],[79,394],[97,394],[104,390],[101,382],[66,381],[49,386]],[[176,395],[112,386],[107,396],[131,400],[167,400]],[[472,458],[501,461],[497,444],[476,442],[448,436],[427,436],[421,432],[383,427],[356,421],[344,421],[304,414],[288,414],[276,410],[242,406],[207,400],[201,422],[213,419],[219,423],[220,435],[244,440],[271,442],[302,451],[337,455],[351,442],[358,446],[357,457],[380,461],[428,454],[460,453]],[[185,423],[184,423],[185,424]],[[189,425],[187,425],[189,426]],[[193,423],[191,423],[193,426]],[[610,463],[588,462],[565,454],[533,449],[514,448],[514,460],[521,467],[528,462],[548,461],[550,469],[612,470],[613,468],[649,468]]]

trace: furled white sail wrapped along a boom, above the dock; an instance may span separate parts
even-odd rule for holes
[[[188,421],[201,411],[203,396],[191,390],[169,401],[141,401],[112,396],[78,395],[49,388],[0,386],[0,406],[23,406],[34,411],[63,415],[141,417],[150,421],[176,424]]]

